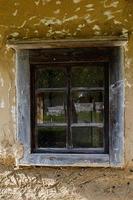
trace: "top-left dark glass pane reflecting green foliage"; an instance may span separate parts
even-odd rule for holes
[[[65,73],[62,69],[36,70],[36,88],[65,87]]]

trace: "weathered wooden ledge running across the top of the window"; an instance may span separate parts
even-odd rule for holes
[[[62,39],[62,40],[8,40],[7,45],[13,49],[41,49],[41,48],[78,48],[98,46],[123,46],[126,37],[94,37],[90,39]]]

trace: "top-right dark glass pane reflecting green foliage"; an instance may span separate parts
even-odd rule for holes
[[[73,67],[72,87],[103,87],[104,67]]]

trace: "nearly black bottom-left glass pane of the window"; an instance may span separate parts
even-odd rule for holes
[[[39,148],[65,148],[65,127],[40,127],[37,130]]]

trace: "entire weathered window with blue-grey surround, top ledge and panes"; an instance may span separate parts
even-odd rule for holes
[[[123,41],[45,41],[17,49],[19,165],[122,166]]]

